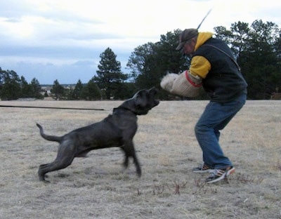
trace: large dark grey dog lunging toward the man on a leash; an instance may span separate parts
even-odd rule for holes
[[[154,87],[138,91],[132,98],[114,108],[112,114],[102,121],[77,128],[63,136],[46,135],[42,126],[37,124],[42,138],[60,144],[55,160],[39,166],[39,180],[49,183],[45,179],[46,173],[70,166],[74,157],[86,157],[91,150],[106,147],[121,147],[125,155],[124,167],[128,167],[129,157],[132,157],[136,173],[141,177],[141,166],[133,145],[133,136],[138,128],[137,115],[148,114],[153,107],[159,105],[159,100],[155,99],[157,92]]]

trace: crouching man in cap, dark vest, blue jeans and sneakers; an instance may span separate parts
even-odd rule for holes
[[[193,168],[195,173],[211,173],[207,183],[223,180],[235,168],[223,154],[218,143],[220,130],[243,107],[247,99],[247,82],[242,77],[232,51],[226,43],[212,37],[210,32],[185,29],[179,36],[176,50],[191,55],[189,74],[202,79],[210,98],[195,126],[195,135],[203,152],[203,164]]]

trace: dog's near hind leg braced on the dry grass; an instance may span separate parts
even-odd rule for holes
[[[66,168],[70,166],[74,159],[74,148],[75,146],[67,144],[67,142],[63,142],[58,148],[58,155],[55,160],[50,164],[41,164],[39,166],[38,175],[39,180],[48,183],[45,180],[45,174],[51,171],[58,171],[60,169]]]

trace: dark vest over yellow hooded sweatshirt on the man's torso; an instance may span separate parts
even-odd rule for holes
[[[210,32],[198,34],[190,73],[202,78],[203,88],[211,101],[229,102],[247,94],[247,82],[235,65],[233,53],[228,45],[220,39],[212,38],[212,35]]]

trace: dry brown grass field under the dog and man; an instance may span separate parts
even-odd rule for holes
[[[105,111],[0,107],[0,218],[281,218],[281,102],[248,101],[223,130],[235,164],[228,182],[206,185],[192,173],[201,162],[193,127],[207,101],[162,101],[138,117],[134,138],[143,176],[122,171],[119,148],[92,151],[39,182],[39,164],[53,161],[63,135],[100,121],[121,102],[34,101],[1,105],[93,107]]]

